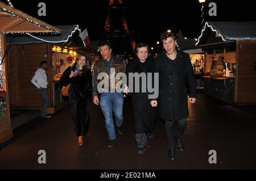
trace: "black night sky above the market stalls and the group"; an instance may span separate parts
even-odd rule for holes
[[[5,2],[5,1],[3,1]],[[98,40],[104,31],[109,0],[86,1],[43,1],[12,0],[16,9],[26,12],[51,25],[79,24],[88,28],[90,40]],[[46,3],[46,16],[38,16],[38,3]],[[217,16],[208,15],[208,3],[217,4]],[[159,35],[167,28],[179,29],[187,37],[198,37],[201,32],[201,5],[198,0],[187,1],[144,1],[123,0],[126,19],[134,32],[135,42],[144,41],[154,45]],[[256,21],[256,6],[251,1],[210,1],[205,2],[205,19],[213,21]]]

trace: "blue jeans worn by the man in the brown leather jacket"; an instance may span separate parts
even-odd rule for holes
[[[102,93],[100,99],[101,111],[105,117],[105,125],[108,131],[109,140],[115,140],[115,124],[121,127],[123,124],[123,93]]]

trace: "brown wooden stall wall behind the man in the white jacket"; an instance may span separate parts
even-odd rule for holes
[[[52,55],[51,46],[48,44],[20,44],[14,45],[10,49],[12,53],[17,54],[10,61],[10,66],[15,67],[18,73],[11,74],[10,88],[14,91],[11,95],[11,104],[16,107],[41,107],[42,99],[36,87],[32,85],[31,79],[35,71],[40,67],[41,61],[48,62],[48,106],[52,105]],[[13,56],[11,56],[13,57]],[[19,62],[19,63],[16,63]],[[16,87],[17,86],[17,87]],[[16,87],[14,90],[14,87]],[[17,89],[18,88],[18,89]]]

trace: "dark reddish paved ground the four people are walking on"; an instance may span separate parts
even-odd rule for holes
[[[125,100],[123,135],[108,148],[104,119],[91,105],[92,121],[86,144],[79,148],[69,109],[51,119],[35,119],[14,130],[0,149],[0,169],[256,169],[256,107],[233,107],[204,94],[195,105],[183,136],[185,152],[167,158],[164,124],[158,121],[144,155],[138,155],[130,99]],[[46,150],[47,163],[39,165],[38,150]],[[217,151],[210,165],[208,151]]]

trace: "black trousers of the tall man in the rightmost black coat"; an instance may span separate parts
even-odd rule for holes
[[[169,148],[171,148],[174,146],[175,137],[181,138],[183,132],[185,131],[185,128],[187,127],[187,118],[177,121],[165,120],[165,127],[167,144]]]

